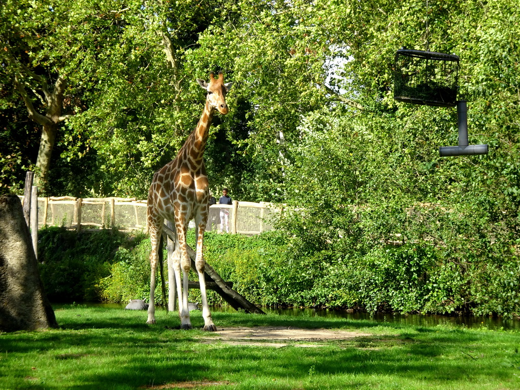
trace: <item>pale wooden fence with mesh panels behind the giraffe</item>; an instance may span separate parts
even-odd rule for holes
[[[23,197],[20,197],[23,202]],[[146,200],[127,198],[37,198],[38,227],[69,229],[146,230]],[[226,214],[228,229],[223,226]],[[233,201],[232,205],[210,206],[206,231],[216,230],[257,235],[274,228],[281,208],[270,203]],[[193,222],[191,223],[192,227]],[[222,229],[221,229],[222,228]]]

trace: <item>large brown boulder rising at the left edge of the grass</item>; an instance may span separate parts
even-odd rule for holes
[[[0,330],[57,327],[17,196],[0,197]]]

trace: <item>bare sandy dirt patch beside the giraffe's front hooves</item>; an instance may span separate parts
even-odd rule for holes
[[[362,336],[370,336],[370,334],[330,329],[258,327],[217,330],[214,336],[203,337],[203,341],[205,343],[222,342],[228,345],[284,347],[290,344],[301,347],[315,347],[330,340],[352,340]]]

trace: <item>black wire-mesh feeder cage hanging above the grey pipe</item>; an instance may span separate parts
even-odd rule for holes
[[[454,107],[459,57],[399,49],[395,54],[394,99],[426,106]]]

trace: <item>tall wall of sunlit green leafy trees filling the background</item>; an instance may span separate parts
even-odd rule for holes
[[[195,79],[223,70],[235,86],[206,149],[212,189],[287,204],[287,261],[308,272],[302,291],[329,270],[336,293],[323,302],[397,308],[392,296],[417,290],[401,280],[423,286],[413,307],[429,296],[434,310],[517,312],[504,308],[517,305],[520,274],[511,0],[5,3],[3,190],[37,165],[39,112],[57,126],[46,193],[145,197],[198,120]],[[456,110],[393,100],[402,46],[460,56],[470,144],[488,155],[439,158],[439,146],[457,145]],[[49,98],[60,80],[61,116]],[[387,247],[396,241],[405,246]],[[370,300],[341,297],[351,290]]]

